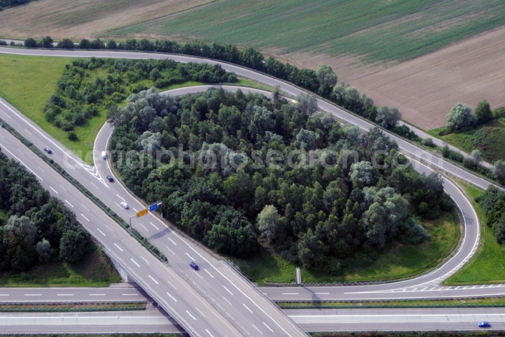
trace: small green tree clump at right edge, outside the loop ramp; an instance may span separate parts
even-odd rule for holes
[[[496,241],[505,243],[505,192],[490,186],[477,201],[486,214],[486,224],[493,230]]]

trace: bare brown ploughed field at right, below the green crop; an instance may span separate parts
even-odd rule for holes
[[[430,130],[444,126],[458,102],[472,108],[482,99],[492,108],[505,105],[504,42],[502,27],[399,64],[363,65],[356,58],[309,54],[284,59],[310,68],[328,63],[339,81],[349,82],[378,105],[397,106],[407,122]]]

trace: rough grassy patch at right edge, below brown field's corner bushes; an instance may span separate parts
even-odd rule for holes
[[[498,159],[505,160],[505,118],[491,120],[484,125],[464,132],[453,132],[440,136],[439,132],[446,130],[445,127],[428,131],[433,137],[442,139],[471,153],[474,149],[482,152],[483,159],[493,163]]]

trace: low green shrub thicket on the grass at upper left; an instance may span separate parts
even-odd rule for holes
[[[107,77],[89,71],[106,72]],[[208,64],[182,64],[171,60],[90,59],[76,60],[67,65],[58,80],[57,91],[44,106],[45,118],[64,131],[83,125],[112,103],[118,103],[130,93],[147,89],[148,83],[156,87],[188,80],[218,83],[235,82],[234,73],[220,66]],[[76,138],[69,133],[69,139]]]

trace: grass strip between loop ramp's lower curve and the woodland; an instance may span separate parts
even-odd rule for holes
[[[460,226],[456,210],[444,213],[439,219],[425,221],[431,240],[419,246],[394,244],[385,248],[373,266],[347,269],[343,276],[331,276],[301,269],[304,283],[356,282],[363,280],[389,280],[409,277],[436,266],[456,247]],[[295,265],[276,254],[263,251],[255,258],[231,258],[240,271],[260,286],[266,282],[294,283]]]

